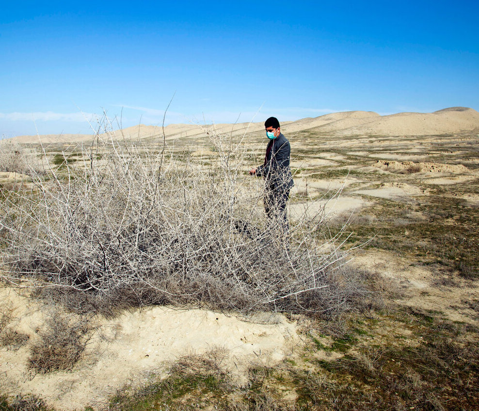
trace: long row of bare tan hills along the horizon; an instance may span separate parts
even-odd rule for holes
[[[280,119],[281,120],[281,119]],[[287,134],[301,131],[337,136],[379,135],[379,136],[427,136],[476,132],[479,130],[479,112],[467,107],[450,107],[432,113],[400,112],[380,115],[374,111],[344,111],[325,114],[319,117],[307,117],[296,121],[281,121]],[[253,133],[263,130],[263,122],[236,124],[170,124],[164,127],[168,140],[206,136],[208,130],[221,133]],[[101,139],[155,139],[163,138],[161,126],[140,124],[100,135]],[[93,136],[87,134],[61,134],[41,136],[18,136],[14,140],[21,143],[35,142],[89,142]]]

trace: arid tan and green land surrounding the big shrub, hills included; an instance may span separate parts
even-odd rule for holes
[[[240,167],[262,206],[247,171],[262,163],[264,127],[215,127],[244,135]],[[206,163],[215,156],[208,129],[167,126],[164,141]],[[343,248],[356,247],[348,264],[366,273],[367,306],[334,317],[171,306],[92,316],[95,332],[71,370],[42,373],[32,347],[59,309],[5,281],[0,409],[479,409],[479,113],[353,111],[281,130],[291,143],[291,225],[307,210],[332,236],[350,233]],[[163,143],[153,126],[102,138]],[[29,150],[41,140],[61,164],[92,136],[16,140]],[[21,178],[2,172],[0,184],[28,184]]]

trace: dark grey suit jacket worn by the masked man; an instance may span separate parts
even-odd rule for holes
[[[266,147],[264,164],[256,169],[256,174],[263,176],[267,184],[274,185],[276,190],[289,190],[294,186],[293,176],[289,168],[291,147],[286,137],[280,133],[270,140]]]

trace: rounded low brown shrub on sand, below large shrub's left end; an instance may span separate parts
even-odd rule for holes
[[[31,348],[30,368],[42,374],[71,370],[88,343],[88,321],[55,313],[48,317],[44,326],[39,341]]]

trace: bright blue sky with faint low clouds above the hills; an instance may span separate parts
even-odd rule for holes
[[[166,124],[479,110],[478,16],[477,0],[4,3],[0,136],[89,133],[122,108],[123,126],[161,125],[175,92]]]

